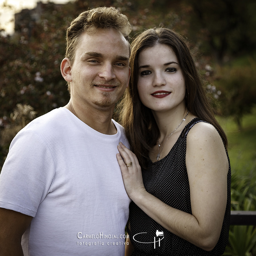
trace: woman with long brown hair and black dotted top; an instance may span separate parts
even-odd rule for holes
[[[132,200],[132,255],[222,255],[230,222],[227,138],[189,48],[173,30],[149,29],[133,41],[130,65],[121,123],[134,153],[119,143],[117,160]]]

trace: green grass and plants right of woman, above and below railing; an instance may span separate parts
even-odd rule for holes
[[[256,107],[242,119],[239,130],[232,117],[217,117],[228,136],[230,157],[231,210],[256,210]],[[230,226],[224,255],[255,256],[256,227]]]

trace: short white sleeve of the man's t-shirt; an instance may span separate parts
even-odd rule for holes
[[[46,143],[32,131],[13,139],[0,174],[0,207],[34,217],[55,174]]]

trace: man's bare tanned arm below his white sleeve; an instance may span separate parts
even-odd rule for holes
[[[23,256],[21,237],[33,217],[0,208],[0,255]]]

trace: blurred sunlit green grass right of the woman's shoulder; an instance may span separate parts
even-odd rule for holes
[[[232,173],[256,177],[256,107],[242,120],[242,130],[231,117],[217,117],[228,137]]]

